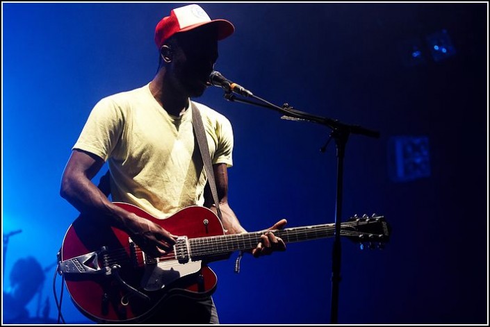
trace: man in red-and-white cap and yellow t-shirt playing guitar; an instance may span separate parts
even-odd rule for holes
[[[101,99],[73,147],[60,194],[83,214],[97,215],[124,230],[140,248],[158,258],[172,251],[179,235],[108,201],[91,179],[108,161],[113,201],[131,203],[158,219],[193,205],[216,212],[201,153],[195,143],[190,97],[209,85],[218,59],[218,40],[234,33],[224,19],[211,20],[197,5],[172,10],[156,26],[158,72],[136,90]],[[229,207],[227,167],[232,165],[233,134],[228,119],[201,103],[200,114],[213,163],[222,224],[227,233],[245,233]],[[206,189],[207,190],[207,189]],[[270,229],[283,228],[282,219]],[[261,236],[251,253],[258,257],[286,246],[273,233]],[[171,297],[143,323],[218,323],[211,297],[203,301]]]

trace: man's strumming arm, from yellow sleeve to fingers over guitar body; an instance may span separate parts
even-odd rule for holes
[[[61,178],[60,195],[82,214],[108,219],[109,224],[124,230],[141,249],[154,257],[171,251],[175,235],[138,217],[109,201],[92,178],[99,172],[104,160],[92,153],[74,150]]]

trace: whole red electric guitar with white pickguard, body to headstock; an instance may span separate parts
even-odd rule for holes
[[[254,249],[264,231],[226,235],[211,210],[190,206],[168,219],[156,219],[128,203],[117,203],[174,235],[174,251],[152,258],[122,230],[79,217],[68,228],[59,266],[72,301],[83,315],[102,323],[134,323],[152,315],[168,296],[209,296],[217,278],[207,263],[233,251]],[[274,230],[284,242],[334,236],[334,224]],[[386,242],[389,225],[382,216],[353,217],[341,224],[341,236],[356,242]]]

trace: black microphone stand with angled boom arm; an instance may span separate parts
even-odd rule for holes
[[[252,95],[252,98],[261,101],[262,103],[257,103],[255,101],[250,101],[248,99],[238,98],[236,95],[231,94],[229,91],[224,92],[224,99],[228,101],[235,101],[241,103],[248,103],[254,106],[260,106],[263,108],[268,108],[281,112],[283,116],[281,119],[289,120],[304,120],[311,121],[318,124],[328,126],[332,129],[330,133],[329,140],[320,149],[325,152],[325,149],[332,140],[335,140],[336,144],[336,155],[337,155],[337,181],[336,181],[336,205],[335,205],[335,232],[334,232],[334,246],[332,249],[332,298],[331,298],[331,312],[330,312],[330,323],[337,324],[338,320],[338,284],[341,281],[341,217],[342,217],[342,194],[343,194],[343,162],[345,156],[345,144],[350,134],[365,135],[368,137],[379,137],[379,132],[371,131],[368,128],[364,128],[359,125],[349,125],[343,124],[338,119],[330,119],[327,117],[320,117],[316,115],[311,115],[307,112],[302,112],[293,109],[288,103],[284,103],[281,107],[275,106],[274,104]]]

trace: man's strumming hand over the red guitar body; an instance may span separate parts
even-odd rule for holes
[[[133,242],[152,257],[158,258],[173,251],[177,235],[172,235],[153,221],[131,213],[124,219],[124,226]]]

